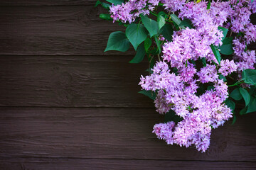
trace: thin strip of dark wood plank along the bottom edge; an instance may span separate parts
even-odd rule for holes
[[[0,168],[5,170],[26,169],[256,169],[255,162],[186,162],[163,160],[125,160],[125,159],[23,159],[1,158]]]

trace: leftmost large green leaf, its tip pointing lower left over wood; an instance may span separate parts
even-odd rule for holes
[[[110,34],[110,37],[107,41],[107,47],[104,52],[110,50],[117,50],[120,52],[125,52],[129,49],[129,40],[127,36],[122,31],[117,31]]]

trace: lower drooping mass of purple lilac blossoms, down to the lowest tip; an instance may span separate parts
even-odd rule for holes
[[[230,108],[223,104],[228,98],[228,86],[218,77],[211,77],[215,89],[196,96],[196,81],[190,79],[184,84],[182,76],[170,73],[166,62],[157,62],[152,71],[150,76],[142,77],[139,84],[142,89],[158,91],[156,111],[166,113],[171,109],[183,118],[177,125],[174,122],[156,124],[153,132],[168,144],[196,145],[198,150],[205,152],[210,145],[211,127],[218,128],[232,117]],[[208,70],[201,74],[203,72]],[[189,74],[194,75],[195,70]]]

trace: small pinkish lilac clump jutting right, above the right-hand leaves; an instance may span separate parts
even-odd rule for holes
[[[220,61],[220,69],[218,72],[223,74],[223,76],[228,76],[232,72],[235,72],[238,69],[238,66],[235,64],[234,60],[221,60]]]

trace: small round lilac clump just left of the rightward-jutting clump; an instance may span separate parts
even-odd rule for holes
[[[206,67],[201,68],[200,72],[197,73],[202,83],[214,82],[218,79],[217,69],[214,65],[206,64]]]

